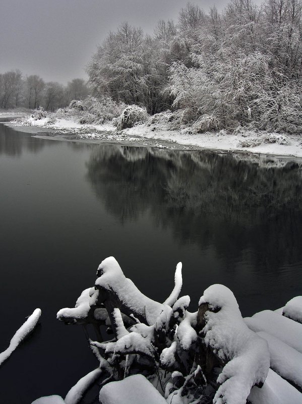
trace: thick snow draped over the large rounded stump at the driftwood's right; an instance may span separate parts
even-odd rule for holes
[[[204,341],[222,362],[214,403],[245,404],[251,388],[264,382],[269,369],[267,342],[251,331],[239,311],[233,293],[215,284],[207,288],[199,304],[207,303]],[[218,310],[218,311],[217,311]]]

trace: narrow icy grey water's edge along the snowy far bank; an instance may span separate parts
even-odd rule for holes
[[[16,116],[0,116],[1,118],[11,119],[16,118]],[[98,138],[95,135],[89,135],[87,133],[74,132],[68,133],[69,129],[64,128],[64,130],[59,130],[55,128],[43,128],[40,126],[19,126],[12,125],[11,121],[3,121],[4,125],[10,127],[11,129],[17,132],[24,132],[31,134],[32,137],[38,139],[45,140],[57,140],[57,141],[66,141],[66,142],[78,142],[78,143],[90,143],[90,144],[115,144],[121,146],[131,146],[131,147],[155,147],[163,150],[170,151],[204,151],[209,153],[217,153],[223,155],[238,155],[238,156],[246,156],[246,157],[259,157],[264,159],[274,159],[274,160],[287,160],[293,161],[297,163],[302,162],[302,148],[301,148],[301,156],[295,156],[293,154],[279,154],[279,153],[270,153],[270,152],[261,152],[258,150],[251,150],[251,148],[246,148],[244,150],[236,149],[236,148],[215,148],[215,147],[203,147],[194,144],[182,144],[173,141],[172,139],[161,139],[160,133],[158,133],[157,137],[144,137],[142,135],[132,134],[131,132],[137,133],[137,128],[134,127],[128,130],[124,130],[122,132],[116,131],[106,131],[103,130],[97,133],[97,136],[101,136]],[[74,128],[70,128],[72,132]],[[91,131],[92,132],[92,131]],[[153,133],[154,135],[154,133]],[[173,134],[171,134],[173,135]],[[83,137],[82,137],[83,136]],[[91,136],[91,137],[89,137]],[[189,135],[190,136],[190,135]],[[203,136],[203,135],[199,135]],[[226,135],[227,136],[227,135]],[[214,135],[213,135],[214,137]],[[218,143],[218,142],[217,142]],[[290,146],[283,146],[290,147]]]

